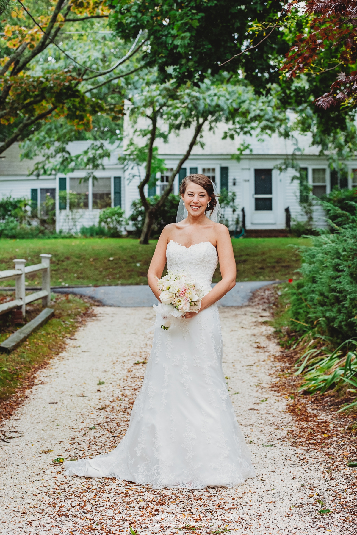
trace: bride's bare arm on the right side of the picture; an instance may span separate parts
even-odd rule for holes
[[[237,268],[229,230],[225,225],[217,225],[217,254],[222,280],[205,295],[201,301],[200,312],[215,303],[236,286]],[[187,312],[186,318],[193,318],[196,312]]]

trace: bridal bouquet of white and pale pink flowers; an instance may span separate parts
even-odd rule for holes
[[[164,322],[161,327],[167,330],[174,318],[181,318],[186,312],[198,312],[201,308],[203,289],[193,280],[189,273],[168,274],[157,279],[157,287],[161,290],[158,307],[154,308],[161,314]]]

